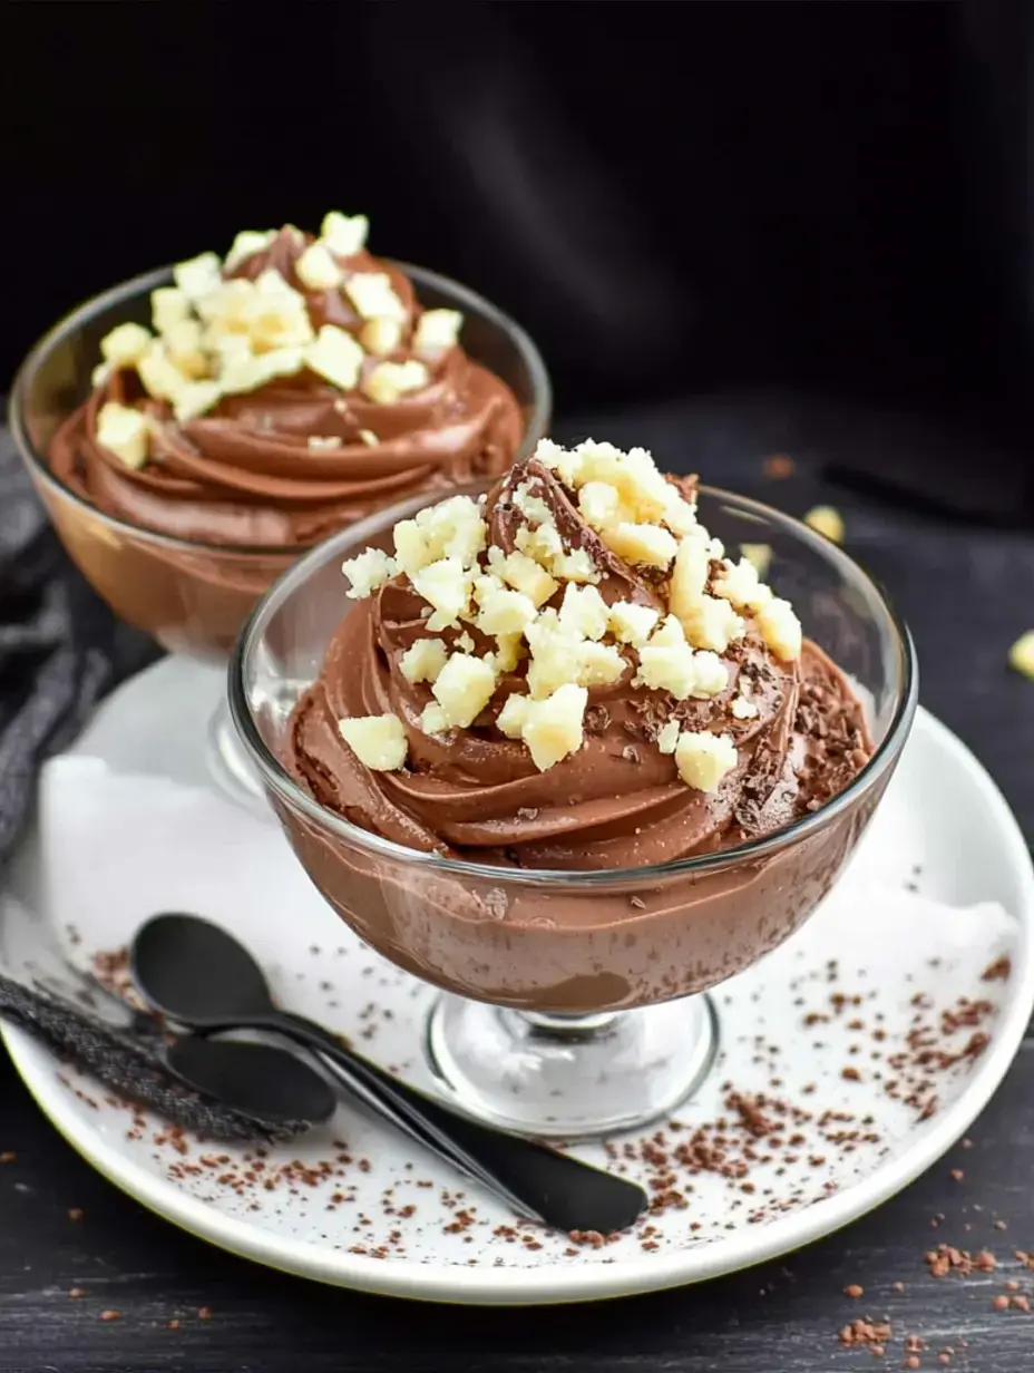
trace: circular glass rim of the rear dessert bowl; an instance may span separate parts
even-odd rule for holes
[[[549,380],[549,372],[542,354],[538,351],[534,341],[531,339],[531,335],[497,305],[493,305],[486,297],[471,290],[471,287],[464,286],[461,281],[455,281],[452,277],[444,276],[441,272],[433,272],[430,268],[417,266],[415,262],[402,262],[398,258],[387,257],[380,258],[379,261],[389,262],[391,266],[398,268],[400,272],[411,277],[411,280],[415,280],[417,291],[423,284],[431,287],[433,290],[441,290],[444,294],[452,295],[457,305],[466,306],[466,309],[487,317],[514,342],[518,353],[527,367],[534,397],[531,413],[529,416],[527,427],[518,453],[522,454],[526,450],[530,450],[545,434],[553,404],[553,389],[552,382]],[[108,515],[104,511],[97,509],[96,505],[92,505],[88,500],[85,500],[85,497],[80,496],[78,492],[66,486],[65,482],[59,481],[29,438],[25,422],[29,383],[49,351],[63,339],[74,334],[76,330],[81,328],[82,324],[100,310],[129,301],[133,297],[143,295],[144,292],[150,294],[150,291],[155,290],[155,287],[165,286],[172,281],[172,273],[173,268],[172,264],[169,264],[168,266],[151,268],[148,272],[141,272],[139,276],[119,281],[115,286],[108,287],[108,290],[89,297],[89,299],[84,301],[81,305],[77,305],[76,309],[65,314],[56,324],[51,325],[51,328],[47,330],[40,339],[36,341],[18,368],[11,386],[7,422],[11,427],[11,435],[15,446],[25,464],[30,468],[34,476],[43,482],[44,486],[49,487],[65,500],[71,501],[74,505],[78,505],[81,509],[88,511],[93,519],[100,520],[107,529],[115,530],[117,533],[137,541],[154,544],[159,548],[169,548],[180,552],[185,549],[191,553],[209,553],[211,556],[227,555],[264,559],[286,556],[294,559],[302,553],[308,553],[316,545],[202,542],[199,540],[179,538],[176,534],[162,534],[158,530],[146,529],[143,524],[133,524],[130,520],[119,519],[117,515]]]

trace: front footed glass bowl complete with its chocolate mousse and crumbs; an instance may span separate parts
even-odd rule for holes
[[[442,989],[426,1048],[456,1101],[571,1138],[660,1116],[699,1085],[718,1035],[706,993],[831,890],[891,777],[917,686],[908,632],[820,534],[671,483],[684,537],[666,544],[641,531],[667,516],[608,524],[607,483],[575,492],[566,459],[547,441],[487,505],[468,503],[486,535],[459,618],[455,586],[444,597],[439,574],[406,571],[426,501],[306,555],[239,640],[231,710],[332,909]],[[552,553],[534,541],[540,520],[559,530]],[[737,545],[752,563],[724,557]],[[520,607],[492,600],[500,588],[476,570],[515,590],[515,546],[526,627],[507,654]],[[582,562],[564,564],[564,585],[549,557],[578,551],[596,581]],[[552,589],[526,579],[530,555],[552,567]],[[779,597],[757,574],[762,556]],[[358,599],[345,597],[342,560]],[[471,697],[485,674],[468,660],[485,662],[504,622],[494,678]]]

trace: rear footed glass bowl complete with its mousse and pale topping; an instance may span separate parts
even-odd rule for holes
[[[121,619],[218,669],[327,533],[498,471],[549,422],[545,367],[512,320],[372,258],[361,217],[323,232],[246,232],[222,264],[202,254],[106,291],[36,345],[11,395],[73,562]],[[357,279],[369,298],[349,295]],[[211,681],[210,762],[240,799],[258,788]]]

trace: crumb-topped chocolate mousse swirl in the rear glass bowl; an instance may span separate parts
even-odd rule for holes
[[[419,492],[512,461],[523,417],[461,346],[463,316],[423,309],[331,213],[239,233],[152,292],[152,328],[102,342],[95,390],[55,435],[55,475],[97,509],[213,545],[299,546]]]

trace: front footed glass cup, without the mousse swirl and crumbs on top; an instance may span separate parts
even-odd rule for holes
[[[912,641],[840,548],[702,487],[702,523],[726,548],[769,546],[774,590],[862,700],[872,755],[854,780],[784,829],[655,866],[534,870],[417,853],[321,806],[284,759],[291,713],[358,604],[346,600],[342,560],[389,551],[394,522],[424,504],[343,531],[280,578],[233,654],[233,722],[331,908],[441,989],[424,1052],[457,1105],[540,1137],[639,1126],[673,1111],[711,1067],[721,1027],[709,989],[792,935],[851,857],[915,715]]]

